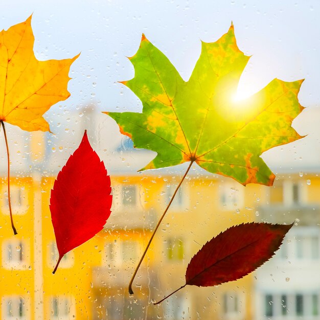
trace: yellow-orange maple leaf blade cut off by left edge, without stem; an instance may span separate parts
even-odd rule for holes
[[[67,99],[72,59],[39,61],[33,53],[31,16],[0,33],[0,121],[27,131],[50,131],[42,117]]]

